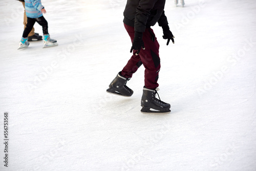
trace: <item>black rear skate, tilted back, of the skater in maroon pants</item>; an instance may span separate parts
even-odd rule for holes
[[[126,86],[126,82],[130,78],[125,78],[119,72],[116,78],[110,83],[109,89],[106,90],[108,93],[130,97],[133,95],[133,90]]]

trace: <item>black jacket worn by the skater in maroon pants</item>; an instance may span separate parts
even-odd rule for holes
[[[137,32],[144,32],[157,22],[160,27],[167,26],[164,5],[165,0],[127,0],[123,23],[134,27]]]

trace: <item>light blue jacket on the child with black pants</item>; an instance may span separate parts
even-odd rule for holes
[[[42,16],[42,8],[44,6],[41,5],[41,0],[25,0],[26,15],[29,18],[39,18]]]

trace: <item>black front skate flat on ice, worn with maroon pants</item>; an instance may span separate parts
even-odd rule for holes
[[[141,112],[145,113],[169,113],[170,104],[156,98],[157,90],[143,88],[143,95],[141,98]]]

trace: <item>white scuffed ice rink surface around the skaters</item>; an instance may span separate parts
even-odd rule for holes
[[[59,46],[17,50],[23,6],[0,2],[0,170],[256,170],[255,1],[166,2],[175,44],[152,28],[169,114],[140,112],[143,66],[132,97],[106,93],[131,57],[125,4],[42,0]]]

